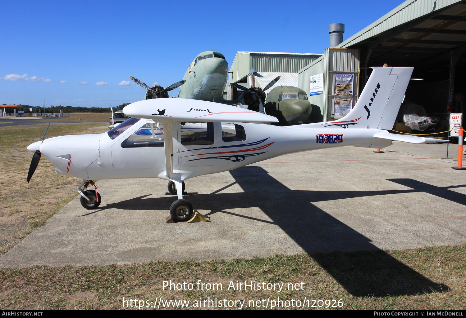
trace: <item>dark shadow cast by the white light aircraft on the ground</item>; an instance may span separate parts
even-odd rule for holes
[[[413,179],[388,179],[412,189],[378,191],[306,191],[291,190],[259,166],[245,166],[230,171],[232,184],[211,194],[187,196],[194,208],[222,212],[241,218],[278,225],[304,251],[329,272],[354,296],[385,297],[449,291],[450,288],[424,277],[396,258],[378,249],[370,239],[332,217],[311,202],[369,197],[396,193],[426,192],[466,205],[466,195]],[[218,193],[238,183],[244,192]],[[134,199],[109,204],[88,214],[109,208],[123,210],[168,209],[173,197]],[[253,218],[228,209],[259,207],[272,221]],[[88,215],[86,214],[86,215]]]

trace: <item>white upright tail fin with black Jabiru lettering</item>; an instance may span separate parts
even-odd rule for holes
[[[393,128],[413,67],[372,68],[354,108],[342,119],[331,123],[353,128]]]

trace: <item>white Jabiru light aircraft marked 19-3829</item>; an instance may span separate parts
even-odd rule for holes
[[[44,155],[57,173],[83,179],[81,204],[101,203],[92,179],[160,178],[178,199],[170,207],[177,221],[192,218],[183,199],[184,181],[223,172],[282,154],[335,146],[384,148],[392,140],[439,142],[388,133],[408,86],[412,67],[373,67],[355,107],[336,121],[273,126],[275,117],[240,107],[195,99],[146,99],[123,108],[131,118],[108,133],[61,136],[35,142],[28,182]]]

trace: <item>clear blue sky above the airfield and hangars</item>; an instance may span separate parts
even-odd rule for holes
[[[330,23],[346,40],[402,2],[1,0],[0,104],[134,102],[130,75],[167,87],[206,50],[323,53]]]

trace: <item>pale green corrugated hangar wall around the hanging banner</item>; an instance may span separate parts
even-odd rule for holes
[[[359,92],[359,50],[326,48],[323,57],[314,63],[301,69],[299,73],[299,88],[309,94],[310,78],[313,75],[323,73],[323,94],[308,96],[311,104],[319,106],[324,121],[329,120],[333,110],[333,94],[335,87],[335,72],[354,73],[353,106],[356,104]],[[329,114],[329,116],[327,116]]]

